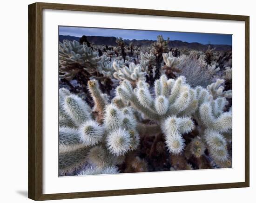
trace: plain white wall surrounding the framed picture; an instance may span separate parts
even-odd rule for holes
[[[253,114],[256,102],[253,95],[256,55],[256,13],[252,0],[50,0],[43,2],[94,6],[117,6],[202,13],[224,13],[250,16],[250,188],[204,190],[119,197],[59,200],[49,202],[254,202],[256,199],[256,133]],[[0,199],[1,202],[32,202],[27,199],[27,5],[33,0],[2,1],[0,6]],[[15,46],[15,47],[14,47]]]

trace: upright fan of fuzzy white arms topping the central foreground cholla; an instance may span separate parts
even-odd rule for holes
[[[193,103],[195,102],[193,90],[185,83],[184,77],[179,77],[177,80],[167,80],[167,77],[163,75],[159,80],[156,80],[155,99],[149,92],[148,84],[142,81],[137,83],[135,90],[132,89],[129,82],[123,81],[117,87],[116,92],[123,100],[130,101],[135,109],[154,121],[158,121],[163,115],[185,115],[188,112],[190,114],[197,107]]]

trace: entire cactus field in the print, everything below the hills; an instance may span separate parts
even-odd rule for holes
[[[59,43],[59,175],[232,167],[232,51]]]

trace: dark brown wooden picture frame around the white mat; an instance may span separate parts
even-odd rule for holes
[[[245,181],[224,184],[201,184],[128,190],[104,190],[43,194],[43,16],[44,9],[87,11],[102,13],[125,13],[138,15],[219,19],[245,22]],[[249,187],[249,16],[213,13],[191,13],[177,11],[148,10],[135,8],[81,6],[52,3],[34,3],[28,6],[28,197],[33,200],[53,200],[81,197],[103,197],[163,193],[190,190],[212,190]]]

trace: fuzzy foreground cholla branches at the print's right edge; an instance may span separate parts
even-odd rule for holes
[[[221,133],[230,133],[232,129],[232,112],[224,112],[227,100],[218,97],[213,100],[208,91],[197,89],[197,97],[200,100],[199,119],[204,129],[204,139],[206,140],[209,153],[216,164],[221,165],[229,161],[226,140]],[[204,98],[203,100],[201,98]]]

